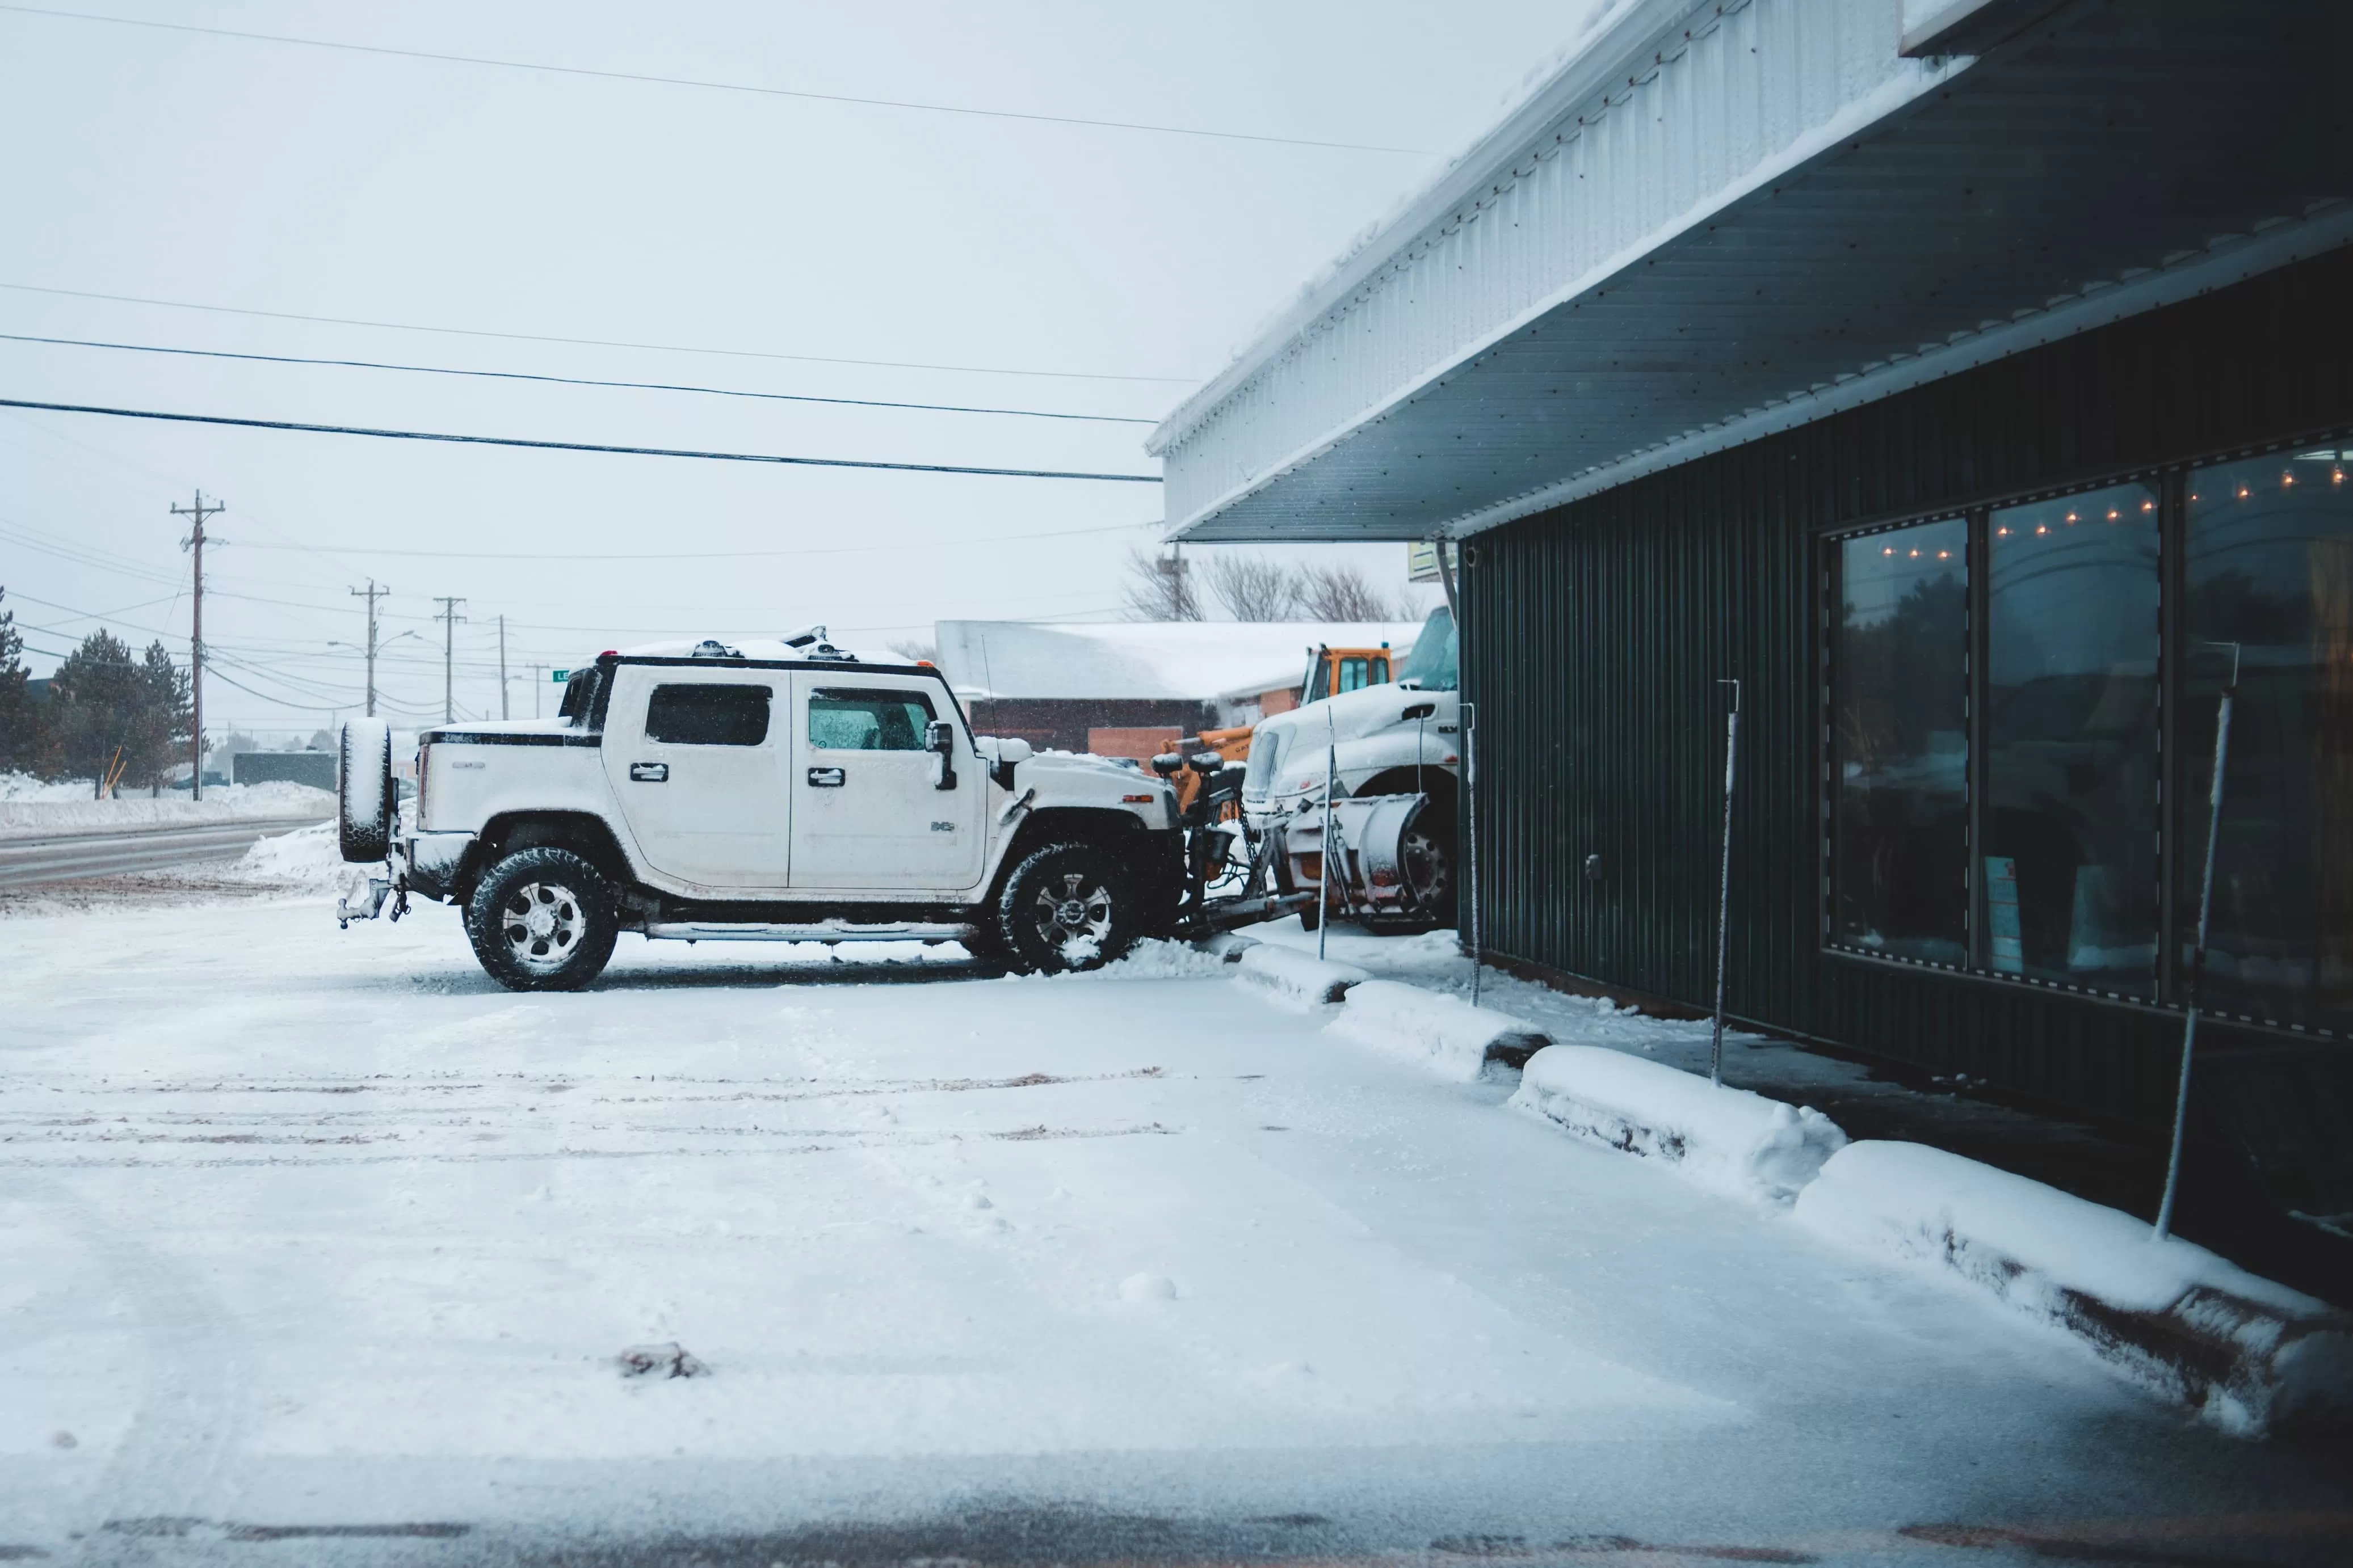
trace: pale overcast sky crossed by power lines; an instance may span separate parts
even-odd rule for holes
[[[52,9],[75,9],[56,0]],[[80,7],[99,9],[99,7]],[[108,0],[104,14],[1417,153],[925,113],[0,9],[0,334],[1155,421],[1445,153],[1591,0],[751,5]],[[405,322],[734,353],[271,320]],[[847,364],[845,360],[861,362]],[[946,369],[960,367],[960,369]],[[760,454],[1158,473],[1075,423],[252,364],[0,341],[0,397]],[[33,649],[186,654],[207,729],[353,712],[374,576],[388,708],[532,665],[812,621],[1113,618],[1151,484],[433,447],[0,409],[0,585]],[[751,555],[767,552],[767,555]],[[1358,548],[1402,585],[1402,550]],[[219,595],[219,597],[214,597]],[[35,654],[35,672],[54,658]],[[252,696],[226,686],[242,682]],[[296,703],[301,708],[296,708]]]

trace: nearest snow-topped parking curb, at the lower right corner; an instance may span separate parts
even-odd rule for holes
[[[1798,1220],[1958,1274],[2226,1432],[2353,1425],[2353,1316],[2122,1211],[1918,1143],[1854,1143]]]

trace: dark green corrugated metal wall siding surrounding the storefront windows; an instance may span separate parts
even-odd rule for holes
[[[1487,950],[1706,1006],[1713,682],[1739,677],[1729,1009],[2085,1112],[2165,1117],[2174,1018],[1821,952],[1817,541],[2353,423],[2346,299],[2339,252],[1475,536],[1464,689],[1480,705]]]

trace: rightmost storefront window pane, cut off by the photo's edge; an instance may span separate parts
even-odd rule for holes
[[[2240,658],[2207,987],[2228,1013],[2353,1020],[2353,454],[2282,451],[2188,477],[2181,792],[2184,957],[2214,764],[2214,705]]]

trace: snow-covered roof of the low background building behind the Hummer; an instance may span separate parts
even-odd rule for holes
[[[1209,701],[1299,684],[1311,646],[1405,656],[1419,621],[941,621],[962,698]]]

